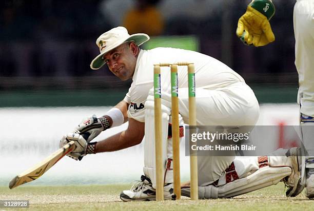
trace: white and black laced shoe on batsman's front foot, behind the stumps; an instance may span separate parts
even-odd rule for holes
[[[164,186],[164,199],[171,199],[173,193],[173,183],[167,183]],[[130,190],[123,191],[120,194],[122,201],[155,201],[156,190],[152,187],[152,183],[149,178],[144,175],[141,176],[141,181],[136,181]]]

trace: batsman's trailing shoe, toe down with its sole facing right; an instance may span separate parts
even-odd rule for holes
[[[283,182],[288,187],[286,191],[287,197],[296,197],[298,196],[304,188],[301,181],[301,168],[302,168],[302,157],[301,157],[301,148],[293,147],[288,150],[286,153],[287,157],[291,158],[292,163],[292,173],[290,176],[285,177]]]

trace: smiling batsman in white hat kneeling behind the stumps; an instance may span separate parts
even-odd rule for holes
[[[139,144],[144,139],[144,175],[129,190],[123,191],[123,201],[155,200],[155,143],[153,65],[191,61],[195,66],[197,125],[254,125],[259,117],[259,103],[244,79],[217,59],[182,49],[139,48],[149,39],[147,34],[129,35],[124,27],[113,28],[96,40],[100,54],[91,69],[107,65],[121,80],[132,78],[132,84],[121,102],[104,116],[92,116],[65,135],[60,145],[74,141],[76,148],[69,154],[80,160],[87,154],[112,152]],[[170,71],[161,69],[162,138],[165,165],[164,198],[173,192],[172,138],[168,134],[171,123]],[[180,125],[188,122],[187,71],[178,67]],[[128,121],[128,128],[99,142],[92,139],[114,126]],[[181,134],[183,127],[180,127]],[[182,136],[182,135],[181,135]],[[273,156],[199,157],[199,198],[223,198],[245,194],[279,181],[289,187],[287,196],[299,194],[300,162],[297,147],[277,150]],[[182,194],[190,196],[189,184],[182,186]]]

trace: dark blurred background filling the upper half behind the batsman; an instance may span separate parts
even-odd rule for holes
[[[183,48],[221,60],[245,79],[260,103],[296,102],[294,0],[276,2],[280,5],[270,21],[276,41],[261,48],[245,46],[235,35],[249,1],[181,3],[1,1],[0,107],[113,106],[122,100],[131,81],[120,81],[107,67],[98,71],[89,67],[99,54],[96,38],[117,26],[128,27],[130,34],[148,33],[151,39],[144,49]],[[155,10],[154,18],[134,17],[135,23],[141,23],[138,28],[127,26],[127,14],[144,14],[147,8]],[[158,17],[160,31],[153,32]]]

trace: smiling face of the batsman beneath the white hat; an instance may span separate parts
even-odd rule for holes
[[[134,43],[124,43],[106,53],[103,58],[116,77],[127,80],[133,76],[138,51]]]

